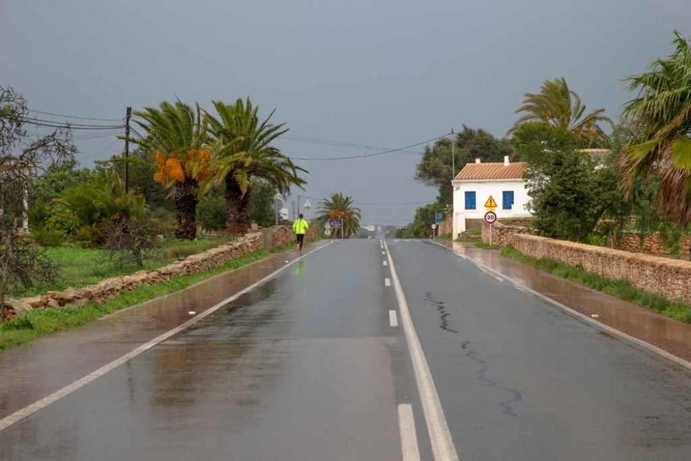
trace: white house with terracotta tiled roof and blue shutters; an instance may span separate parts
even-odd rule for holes
[[[466,229],[480,227],[489,196],[497,203],[494,212],[498,219],[525,218],[531,216],[525,205],[529,197],[523,175],[526,162],[475,163],[466,166],[456,175],[453,184],[453,239]]]

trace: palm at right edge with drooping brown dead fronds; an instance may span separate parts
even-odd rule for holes
[[[674,53],[629,77],[638,96],[624,106],[636,135],[620,157],[627,192],[645,176],[660,178],[657,203],[680,225],[691,223],[691,45],[674,31]]]

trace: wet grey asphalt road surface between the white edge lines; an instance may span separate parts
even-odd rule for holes
[[[389,241],[461,460],[691,459],[691,375],[424,241]],[[0,433],[7,460],[432,459],[378,241],[338,242]]]

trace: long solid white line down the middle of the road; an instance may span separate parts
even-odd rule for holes
[[[417,390],[420,393],[420,403],[425,414],[425,421],[427,422],[427,431],[430,437],[430,444],[432,445],[432,453],[437,461],[455,461],[458,460],[456,447],[453,445],[451,432],[448,431],[448,424],[446,424],[446,417],[444,417],[444,410],[441,402],[439,402],[439,394],[432,379],[430,367],[425,359],[424,351],[420,345],[420,340],[415,332],[413,319],[410,318],[410,310],[408,310],[408,302],[406,296],[401,288],[401,282],[396,274],[396,267],[393,265],[391,252],[386,246],[386,254],[388,255],[389,268],[391,270],[391,279],[396,290],[396,298],[398,300],[399,310],[401,311],[401,323],[406,333],[406,341],[408,341],[408,352],[410,353],[410,361],[413,362],[413,370],[415,371],[415,382],[417,382]]]

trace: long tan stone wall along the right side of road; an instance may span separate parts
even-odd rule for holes
[[[512,237],[511,246],[533,258],[552,258],[608,279],[627,279],[638,288],[672,301],[691,303],[691,262],[631,253],[529,234]]]

